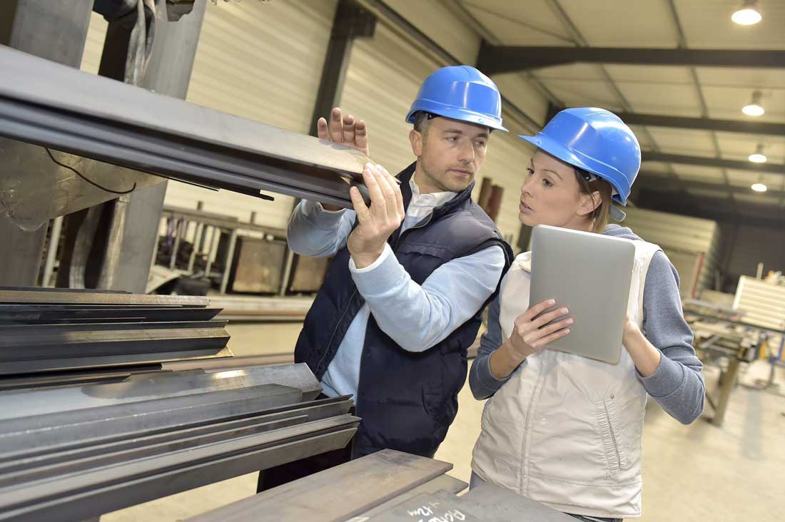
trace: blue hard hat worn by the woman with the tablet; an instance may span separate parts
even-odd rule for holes
[[[519,136],[565,163],[613,185],[613,199],[627,204],[638,170],[641,145],[630,127],[605,109],[564,109],[535,136]]]

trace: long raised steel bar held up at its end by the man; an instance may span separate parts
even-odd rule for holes
[[[13,139],[237,192],[272,190],[344,203],[348,186],[339,177],[358,178],[368,161],[352,148],[68,70],[13,49],[0,48],[0,67],[14,78],[0,78],[0,134]],[[42,82],[42,75],[49,81]],[[20,89],[23,83],[28,85]],[[79,95],[64,93],[70,89]]]

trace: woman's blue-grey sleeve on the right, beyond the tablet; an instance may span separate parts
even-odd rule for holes
[[[649,265],[643,312],[644,335],[663,357],[654,374],[638,378],[663,410],[689,424],[703,411],[703,364],[692,348],[692,330],[681,310],[678,273],[663,252],[657,252]]]

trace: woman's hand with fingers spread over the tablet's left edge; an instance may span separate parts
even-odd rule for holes
[[[574,320],[564,318],[568,308],[543,313],[555,304],[553,299],[542,301],[515,319],[513,333],[491,354],[491,373],[495,378],[509,377],[528,356],[542,352],[553,341],[570,334],[569,327]]]

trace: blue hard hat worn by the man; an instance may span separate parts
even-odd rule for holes
[[[418,111],[507,132],[502,126],[502,95],[498,87],[469,65],[443,67],[425,78],[406,121],[414,123]]]

